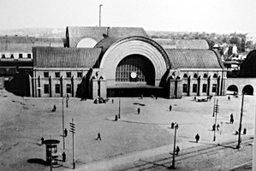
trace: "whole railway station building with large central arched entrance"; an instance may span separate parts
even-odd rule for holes
[[[205,40],[138,27],[67,27],[64,47],[33,47],[32,97],[225,95],[227,69]]]

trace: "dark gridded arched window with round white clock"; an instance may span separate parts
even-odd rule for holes
[[[154,81],[154,66],[145,56],[130,55],[117,65],[116,82],[119,84],[155,85]]]

